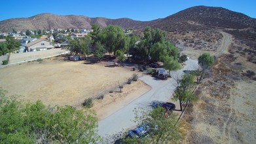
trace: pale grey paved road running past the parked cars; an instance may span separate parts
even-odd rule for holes
[[[188,60],[186,65],[180,71],[172,73],[174,77],[177,75],[181,75],[183,70],[194,70],[195,67],[198,66],[198,62],[196,60]],[[168,79],[167,81],[160,81],[153,77],[144,76],[140,78],[141,81],[149,84],[151,86],[151,90],[147,93],[143,94],[139,98],[135,99],[131,103],[127,103],[122,109],[109,115],[108,117],[100,120],[99,124],[99,134],[104,139],[108,139],[108,141],[113,141],[111,139],[111,135],[122,132],[122,130],[126,130],[128,128],[132,128],[136,126],[134,123],[134,108],[141,109],[141,107],[145,107],[151,103],[151,101],[167,101],[170,99],[174,92],[175,88],[175,80]],[[108,142],[109,143],[109,142]]]

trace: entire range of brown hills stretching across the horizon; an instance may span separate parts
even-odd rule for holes
[[[12,29],[21,31],[26,29],[67,29],[86,28],[92,24],[101,27],[119,25],[122,28],[143,29],[145,26],[159,27],[165,31],[194,31],[209,27],[241,29],[251,27],[256,29],[256,19],[245,14],[233,12],[221,7],[197,6],[182,10],[166,18],[141,22],[129,18],[109,19],[90,18],[88,16],[56,14],[38,14],[29,18],[12,18],[0,22],[0,31],[9,32]]]

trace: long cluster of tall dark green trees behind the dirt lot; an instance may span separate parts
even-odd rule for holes
[[[166,39],[166,35],[166,31],[146,27],[143,37],[139,37],[134,34],[126,35],[120,26],[109,25],[101,29],[94,24],[88,36],[82,39],[69,39],[69,46],[66,49],[73,54],[84,56],[94,54],[98,60],[109,52],[117,56],[121,62],[125,60],[124,54],[127,54],[144,62],[176,65],[174,68],[169,68],[175,70],[179,68],[177,66],[179,49]]]

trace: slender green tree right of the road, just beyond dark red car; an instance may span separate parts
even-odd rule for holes
[[[181,111],[182,105],[185,102],[189,102],[195,99],[195,95],[193,94],[194,90],[194,75],[184,74],[181,79],[177,78],[175,80],[177,82],[177,86],[174,90],[174,100],[179,100],[179,106]]]

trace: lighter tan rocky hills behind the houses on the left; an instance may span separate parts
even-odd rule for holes
[[[9,32],[12,29],[67,29],[67,28],[86,28],[90,29],[92,24],[98,24],[101,27],[107,25],[119,25],[123,28],[136,28],[145,25],[145,22],[131,20],[129,18],[109,19],[109,18],[89,18],[88,16],[60,16],[56,14],[38,14],[29,18],[12,18],[0,22],[0,31]]]

